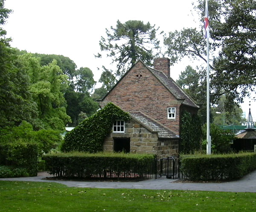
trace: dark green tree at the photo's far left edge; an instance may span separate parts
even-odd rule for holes
[[[11,10],[0,0],[0,26],[6,23]],[[29,92],[26,72],[20,70],[15,51],[9,47],[11,39],[0,27],[0,128],[19,125],[22,120],[35,123],[37,109]]]

